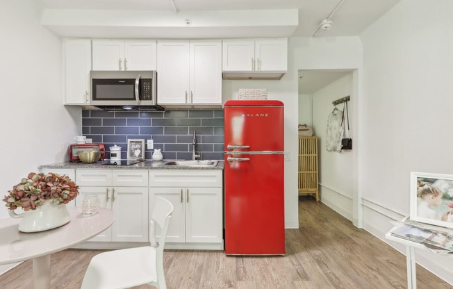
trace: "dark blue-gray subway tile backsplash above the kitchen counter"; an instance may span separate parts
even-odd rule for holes
[[[82,133],[93,142],[122,147],[126,158],[127,140],[152,139],[165,159],[192,158],[193,131],[197,133],[195,151],[202,159],[223,159],[223,110],[165,110],[165,112],[82,111]],[[146,149],[145,158],[152,159],[154,149]]]

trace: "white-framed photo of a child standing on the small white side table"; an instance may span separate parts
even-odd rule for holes
[[[410,217],[453,228],[453,175],[411,172]]]

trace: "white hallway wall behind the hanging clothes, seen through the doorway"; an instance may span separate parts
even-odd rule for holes
[[[336,210],[341,215],[352,220],[352,199],[354,192],[354,166],[352,151],[345,150],[338,152],[327,151],[327,118],[333,108],[332,101],[347,97],[353,93],[353,75],[352,72],[334,81],[326,87],[318,90],[313,94],[313,128],[318,136],[318,156],[319,156],[319,181],[320,197],[324,204]],[[353,139],[354,149],[354,124],[352,117],[354,97],[348,101],[349,115],[349,132],[347,132],[347,114],[345,111],[345,138]],[[343,110],[344,104],[336,106]],[[349,136],[348,136],[349,135]]]

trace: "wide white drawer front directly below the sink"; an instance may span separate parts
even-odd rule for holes
[[[222,188],[221,170],[149,170],[150,187]]]

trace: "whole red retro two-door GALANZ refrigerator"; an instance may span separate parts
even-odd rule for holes
[[[283,103],[224,104],[225,253],[285,254]]]

